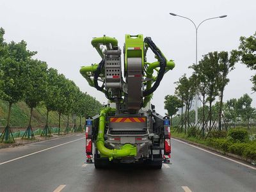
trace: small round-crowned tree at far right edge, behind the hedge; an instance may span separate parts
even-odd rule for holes
[[[252,98],[248,94],[244,94],[237,100],[237,112],[244,121],[247,123],[247,129],[249,131],[249,120],[255,116],[256,110],[252,108]]]

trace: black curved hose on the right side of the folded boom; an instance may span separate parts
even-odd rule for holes
[[[143,97],[146,97],[146,96],[152,94],[154,91],[156,91],[156,89],[159,86],[161,80],[163,79],[164,72],[165,72],[165,67],[166,67],[166,59],[164,58],[163,54],[157,48],[156,44],[154,44],[154,42],[151,40],[150,37],[146,37],[144,39],[144,42],[146,42],[148,44],[148,47],[150,47],[150,49],[154,52],[154,54],[156,54],[157,58],[159,59],[159,66],[160,66],[156,82],[154,83],[152,88],[150,88],[149,90],[145,90],[143,92]]]

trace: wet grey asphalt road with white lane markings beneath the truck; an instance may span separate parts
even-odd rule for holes
[[[0,191],[256,191],[255,169],[175,140],[161,170],[95,170],[84,164],[83,138],[1,149]]]

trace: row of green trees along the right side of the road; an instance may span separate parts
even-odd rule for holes
[[[234,110],[237,103],[247,110],[239,109],[240,112],[243,111],[240,116],[244,117],[246,113],[247,122],[250,118],[253,118],[255,108],[250,106],[252,99],[248,95],[243,96],[244,102],[241,102],[242,99],[239,99],[239,102],[237,101],[235,104],[236,99],[228,100],[225,104],[225,114],[223,114],[223,95],[225,87],[229,82],[228,74],[235,69],[236,63],[239,61],[251,70],[256,69],[256,33],[248,38],[242,36],[237,50],[231,52],[214,51],[205,54],[202,60],[189,67],[193,70],[193,74],[190,77],[184,74],[179,78],[179,81],[175,83],[175,95],[166,95],[164,108],[168,111],[171,119],[179,108],[182,108],[180,122],[182,130],[184,128],[186,132],[186,129],[191,126],[189,110],[195,97],[198,97],[200,102],[202,102],[202,116],[198,118],[196,126],[200,125],[203,136],[205,135],[205,129],[207,129],[207,132],[211,131],[212,128],[221,130],[223,122],[225,124],[227,119],[230,120],[230,116],[233,116],[232,121],[235,121],[239,115],[231,114],[237,111]],[[251,78],[253,83],[252,91],[256,92],[256,75],[248,78]],[[219,101],[213,107],[213,102],[217,98]],[[217,116],[213,116],[213,108],[218,109]]]

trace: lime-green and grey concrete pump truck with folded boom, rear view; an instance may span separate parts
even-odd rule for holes
[[[86,119],[86,161],[93,159],[95,168],[113,163],[161,168],[170,162],[170,119],[156,113],[150,99],[175,64],[143,35],[125,35],[123,56],[115,38],[93,38],[92,45],[102,60],[81,67],[80,73],[109,102],[99,115]],[[147,61],[148,49],[154,63]]]

